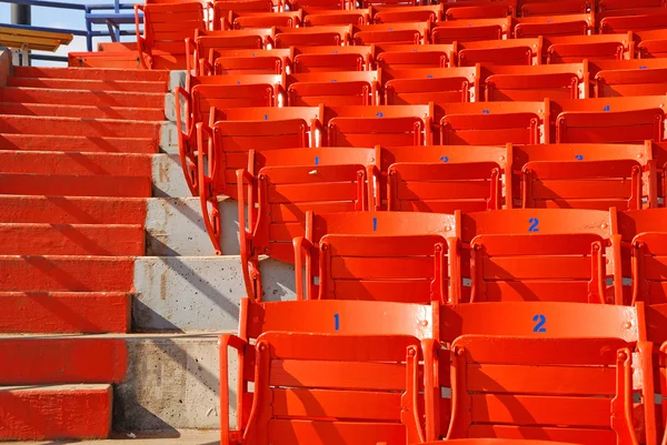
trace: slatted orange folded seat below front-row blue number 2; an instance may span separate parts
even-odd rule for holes
[[[464,335],[451,351],[447,438],[637,443],[623,340]]]

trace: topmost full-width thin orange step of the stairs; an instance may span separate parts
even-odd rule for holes
[[[137,47],[135,45],[135,51]],[[51,78],[80,80],[132,80],[140,82],[169,82],[169,71],[113,70],[81,68],[14,67],[17,78]]]

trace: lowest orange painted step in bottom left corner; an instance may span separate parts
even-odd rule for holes
[[[111,385],[0,387],[0,439],[107,438]]]

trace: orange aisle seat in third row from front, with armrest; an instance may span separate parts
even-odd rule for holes
[[[241,270],[246,292],[262,299],[259,255],[295,261],[292,239],[305,235],[307,211],[367,211],[372,192],[367,172],[374,149],[287,149],[250,152],[248,170],[237,170]],[[243,193],[248,184],[247,196]]]

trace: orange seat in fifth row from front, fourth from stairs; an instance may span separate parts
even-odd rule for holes
[[[487,102],[586,99],[585,63],[552,65],[484,65],[479,77]]]

